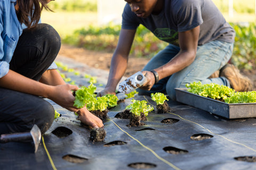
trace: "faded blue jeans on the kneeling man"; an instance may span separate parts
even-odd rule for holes
[[[140,95],[150,95],[155,92],[163,92],[172,100],[176,99],[174,88],[186,88],[187,83],[201,81],[203,84],[217,83],[230,87],[225,77],[207,79],[215,71],[220,70],[231,58],[234,43],[226,43],[219,40],[211,41],[197,47],[196,58],[185,69],[159,80],[150,91],[138,89]],[[165,47],[155,55],[143,68],[145,71],[156,69],[169,62],[180,51],[180,47],[172,44]]]

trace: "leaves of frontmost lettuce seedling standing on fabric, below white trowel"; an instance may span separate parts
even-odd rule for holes
[[[125,107],[125,109],[129,109],[130,112],[136,116],[140,116],[141,113],[144,113],[145,116],[148,115],[148,112],[153,111],[153,107],[147,105],[146,100],[135,100],[132,99],[132,104]]]

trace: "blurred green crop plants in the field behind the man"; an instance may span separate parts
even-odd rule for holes
[[[249,27],[230,23],[236,31],[234,52],[231,62],[238,69],[251,70],[255,68],[256,56],[256,24],[249,24]],[[121,30],[121,25],[109,24],[103,27],[83,28],[74,32],[74,35],[63,38],[63,43],[84,47],[90,50],[104,50],[106,52],[114,52],[118,34]],[[140,25],[137,29],[134,43],[131,48],[131,55],[136,57],[151,58],[159,50],[165,48],[168,44],[159,40]]]

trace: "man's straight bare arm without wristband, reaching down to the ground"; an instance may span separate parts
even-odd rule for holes
[[[116,86],[127,68],[128,56],[131,50],[136,30],[121,29],[118,44],[111,59],[108,82],[98,95],[115,94]]]

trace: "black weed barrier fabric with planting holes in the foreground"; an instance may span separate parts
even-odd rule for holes
[[[150,97],[135,99],[156,108]],[[145,125],[129,127],[117,118],[132,103],[125,99],[103,121],[106,138],[92,142],[74,113],[48,101],[61,117],[36,154],[29,142],[1,143],[0,169],[256,169],[255,118],[227,120],[169,100],[170,112],[150,112]]]

